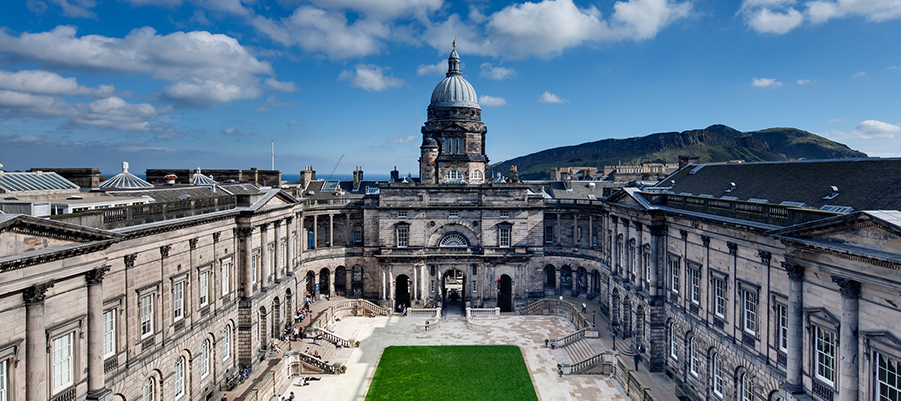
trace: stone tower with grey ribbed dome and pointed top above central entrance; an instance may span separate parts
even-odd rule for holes
[[[460,71],[455,44],[447,58],[447,76],[432,91],[428,120],[422,126],[420,182],[484,182],[487,132],[476,91]]]

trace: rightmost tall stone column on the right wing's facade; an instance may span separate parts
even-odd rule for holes
[[[841,337],[839,344],[841,350],[839,355],[839,382],[838,399],[839,401],[857,401],[859,398],[859,361],[858,353],[858,309],[857,304],[860,300],[860,282],[847,278],[832,276],[832,281],[838,284],[842,293],[842,325]]]

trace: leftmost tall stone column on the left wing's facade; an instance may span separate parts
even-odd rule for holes
[[[47,399],[47,335],[44,327],[44,294],[53,283],[25,289],[25,399]]]

